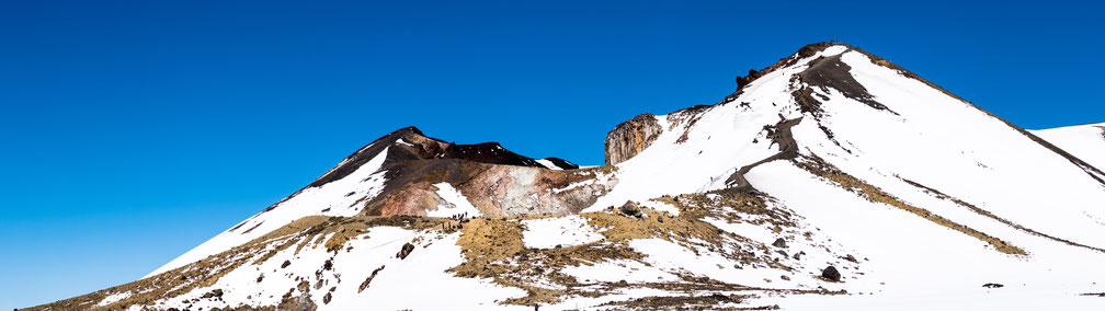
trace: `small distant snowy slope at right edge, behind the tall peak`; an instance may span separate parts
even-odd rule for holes
[[[1033,130],[1040,138],[1063,148],[1099,170],[1105,170],[1105,124]]]

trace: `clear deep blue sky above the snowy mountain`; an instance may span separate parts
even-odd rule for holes
[[[0,4],[0,310],[137,279],[406,126],[600,164],[818,41],[1025,128],[1105,121],[1092,1],[231,2]]]

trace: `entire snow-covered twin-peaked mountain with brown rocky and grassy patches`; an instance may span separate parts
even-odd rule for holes
[[[1033,133],[810,44],[617,126],[601,167],[401,129],[147,278],[35,309],[1087,309],[1094,128]]]

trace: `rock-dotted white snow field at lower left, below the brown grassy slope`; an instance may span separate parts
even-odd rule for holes
[[[459,234],[427,234],[396,227],[371,228],[365,234],[364,238],[347,244],[351,248],[349,251],[332,254],[318,247],[304,248],[295,254],[294,247],[284,249],[263,262],[234,269],[211,286],[194,288],[159,302],[157,307],[183,310],[189,305],[192,309],[259,303],[275,305],[281,301],[281,294],[296,287],[299,282],[297,277],[315,275],[326,260],[330,260],[334,268],[322,272],[324,286],[315,289],[315,283],[311,283],[315,292],[332,293],[333,300],[328,303],[323,303],[323,294],[315,294],[318,304],[326,305],[326,309],[362,310],[365,305],[371,305],[375,310],[449,310],[454,305],[464,305],[481,310],[509,310],[498,305],[496,300],[523,293],[486,280],[459,278],[444,272],[462,262],[457,256]],[[409,257],[396,258],[398,246],[419,236],[423,237],[422,243]],[[294,264],[281,268],[285,260]],[[379,267],[383,269],[360,291],[364,276],[371,275]],[[264,278],[256,281],[262,274]],[[343,277],[346,281],[340,281]],[[190,301],[214,289],[223,290],[221,300]]]

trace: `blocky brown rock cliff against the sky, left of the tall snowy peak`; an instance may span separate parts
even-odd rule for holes
[[[644,151],[664,132],[656,116],[642,114],[607,133],[607,165],[621,163]]]

